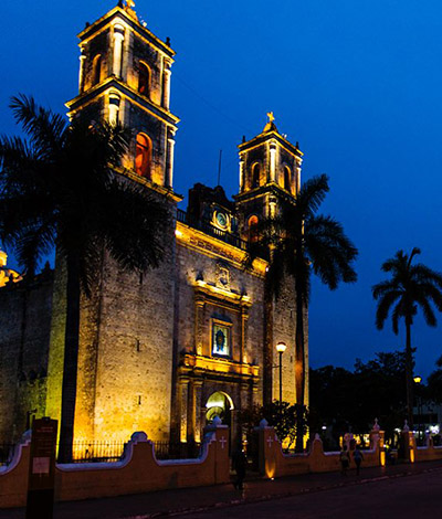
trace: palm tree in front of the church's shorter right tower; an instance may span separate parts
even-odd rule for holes
[[[307,180],[293,203],[286,202],[280,213],[259,227],[259,241],[252,244],[251,258],[270,250],[269,292],[276,298],[287,276],[294,279],[296,296],[295,383],[296,402],[305,405],[305,331],[304,316],[311,296],[311,275],[316,274],[332,290],[339,282],[357,279],[352,262],[358,251],[346,236],[340,223],[316,212],[329,191],[328,177]],[[299,416],[304,413],[299,412]],[[304,424],[298,424],[303,431]],[[296,449],[303,448],[303,435],[296,438]]]

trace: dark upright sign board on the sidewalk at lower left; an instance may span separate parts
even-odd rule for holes
[[[56,428],[56,420],[48,417],[32,424],[27,519],[51,519],[53,515]]]

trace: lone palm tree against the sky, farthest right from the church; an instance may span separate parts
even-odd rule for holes
[[[413,257],[421,251],[414,247],[411,254],[403,251],[387,260],[381,269],[391,273],[391,278],[372,287],[373,298],[379,300],[376,310],[376,326],[379,330],[388,318],[390,310],[392,328],[399,331],[399,319],[406,321],[406,378],[407,378],[407,414],[410,426],[413,425],[413,350],[411,347],[411,325],[422,308],[423,317],[429,326],[436,326],[432,304],[442,311],[442,274],[418,263],[412,265]]]

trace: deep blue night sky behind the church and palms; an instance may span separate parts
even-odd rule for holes
[[[4,2],[1,133],[18,131],[8,102],[19,92],[65,110],[77,93],[76,34],[115,4]],[[330,177],[323,212],[358,246],[359,280],[335,293],[314,283],[312,366],[352,368],[357,357],[402,348],[389,324],[375,328],[371,285],[399,248],[421,247],[422,262],[442,271],[440,1],[138,0],[136,10],[178,53],[176,191],[214,186],[222,149],[221,183],[235,193],[236,145],[261,133],[269,110],[299,141],[303,179]],[[440,336],[417,320],[418,373],[428,375],[442,354]]]

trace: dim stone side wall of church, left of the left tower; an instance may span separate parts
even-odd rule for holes
[[[45,414],[53,273],[0,288],[0,441],[20,437],[27,414]]]

